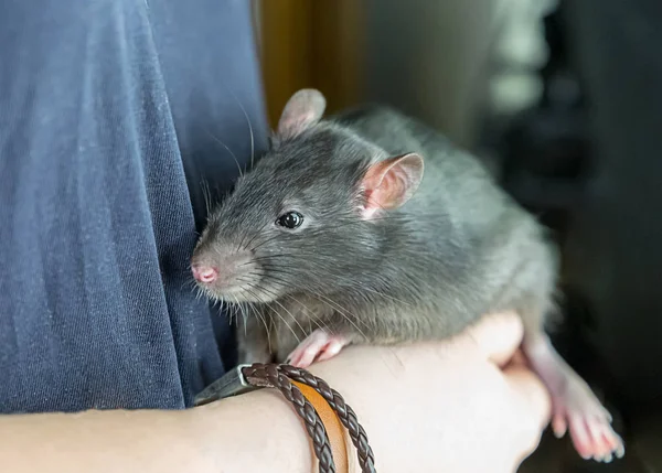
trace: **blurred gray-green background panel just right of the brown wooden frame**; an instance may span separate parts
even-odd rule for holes
[[[474,140],[487,93],[496,0],[365,0],[363,99]]]

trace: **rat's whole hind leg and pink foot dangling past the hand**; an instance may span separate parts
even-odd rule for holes
[[[573,444],[584,459],[610,462],[626,448],[611,427],[611,415],[590,387],[556,353],[548,340],[524,345],[528,361],[552,395],[552,429],[556,437],[569,430]]]

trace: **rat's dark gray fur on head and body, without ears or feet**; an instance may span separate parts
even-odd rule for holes
[[[360,219],[367,166],[409,152],[425,160],[416,194],[383,217]],[[305,216],[293,232],[274,224],[289,209]],[[242,289],[205,290],[250,309],[238,331],[243,362],[267,361],[269,352],[281,362],[318,326],[355,343],[439,340],[503,309],[517,310],[535,336],[557,272],[544,229],[477,159],[373,106],[275,137],[213,212],[194,258],[214,264],[227,251],[253,258],[237,277]]]

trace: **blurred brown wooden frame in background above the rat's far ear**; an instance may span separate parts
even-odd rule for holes
[[[360,99],[365,52],[361,0],[254,0],[269,125],[289,97],[314,87],[329,112]]]

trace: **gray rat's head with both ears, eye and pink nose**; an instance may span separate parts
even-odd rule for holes
[[[214,299],[270,302],[355,287],[383,258],[383,222],[416,191],[417,154],[388,157],[320,121],[324,97],[295,94],[273,147],[211,215],[192,271]]]

